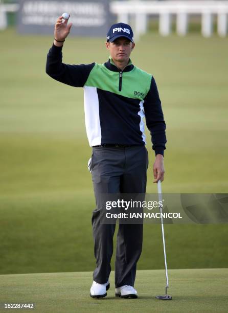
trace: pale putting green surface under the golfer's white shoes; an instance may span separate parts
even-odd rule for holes
[[[92,272],[1,275],[0,303],[34,302],[36,312],[226,312],[227,274],[228,269],[169,270],[172,301],[155,299],[164,293],[164,270],[137,272],[138,299],[115,297],[113,272],[103,299],[89,297]]]

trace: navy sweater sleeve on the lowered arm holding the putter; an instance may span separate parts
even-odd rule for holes
[[[150,90],[144,99],[144,111],[147,128],[150,130],[152,148],[156,154],[163,154],[166,149],[166,123],[156,82],[151,79]]]

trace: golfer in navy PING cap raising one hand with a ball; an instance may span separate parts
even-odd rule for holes
[[[166,124],[155,80],[132,64],[135,48],[129,25],[112,25],[105,42],[110,56],[103,64],[62,63],[63,43],[72,24],[60,16],[55,39],[48,53],[46,72],[52,78],[84,89],[85,125],[93,147],[90,170],[96,197],[92,226],[96,269],[90,296],[102,298],[109,288],[110,261],[115,223],[101,222],[103,210],[99,195],[146,192],[148,152],[145,147],[144,117],[155,151],[154,183],[164,179],[163,155]],[[93,47],[91,47],[93,51]],[[149,53],[149,52],[148,52]],[[143,57],[143,55],[142,55]],[[143,225],[119,224],[115,263],[116,296],[137,298],[134,289],[136,263],[142,252]]]

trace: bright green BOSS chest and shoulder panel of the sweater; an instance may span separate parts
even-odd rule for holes
[[[119,91],[119,72],[108,70],[104,64],[96,63],[85,86],[96,87],[124,97],[143,100],[149,89],[152,75],[134,66],[130,72],[122,73],[122,90]]]

